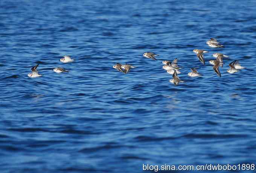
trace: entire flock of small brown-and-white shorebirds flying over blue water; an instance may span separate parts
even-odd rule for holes
[[[215,38],[210,38],[206,43],[208,44],[208,46],[213,47],[213,48],[223,48],[224,47]],[[193,52],[197,54],[199,61],[202,62],[203,64],[205,64],[204,53],[208,53],[208,51],[194,49]],[[159,56],[159,55],[154,54],[152,52],[146,52],[143,54],[143,56],[146,58],[150,58],[152,60],[157,60],[155,58],[155,56]],[[223,67],[223,64],[224,64],[223,58],[228,58],[229,56],[224,55],[222,53],[214,53],[212,56],[215,57],[216,59],[210,60],[209,63],[213,65],[213,70],[216,72],[216,74],[219,77],[221,77],[219,67]],[[68,62],[73,62],[75,60],[71,59],[70,56],[64,56],[63,58],[60,59],[60,61],[63,63],[68,63]],[[180,67],[178,67],[177,63],[178,63],[177,58],[175,58],[173,61],[167,61],[167,60],[163,61],[163,64],[165,64],[165,65],[163,65],[163,69],[165,69],[167,71],[167,73],[172,74],[173,79],[171,79],[170,82],[174,83],[174,85],[178,85],[180,82],[184,82],[184,81],[180,80],[180,78],[178,77],[178,74],[180,74],[181,72],[179,71]],[[38,65],[39,64],[37,64],[31,68],[32,73],[27,74],[28,77],[35,78],[35,77],[42,76],[42,74],[38,74],[38,71],[37,71]],[[229,67],[230,67],[229,70],[227,70],[228,73],[236,73],[239,70],[245,68],[239,64],[238,60],[232,61],[229,64]],[[118,71],[120,71],[124,74],[127,74],[131,68],[135,68],[135,67],[130,64],[122,65],[122,64],[116,63],[113,66],[113,68],[117,69]],[[202,76],[202,74],[198,73],[197,68],[193,67],[193,68],[190,68],[190,70],[192,72],[188,73],[189,76],[191,76],[191,77]],[[54,68],[53,71],[56,73],[69,72],[61,67]]]

